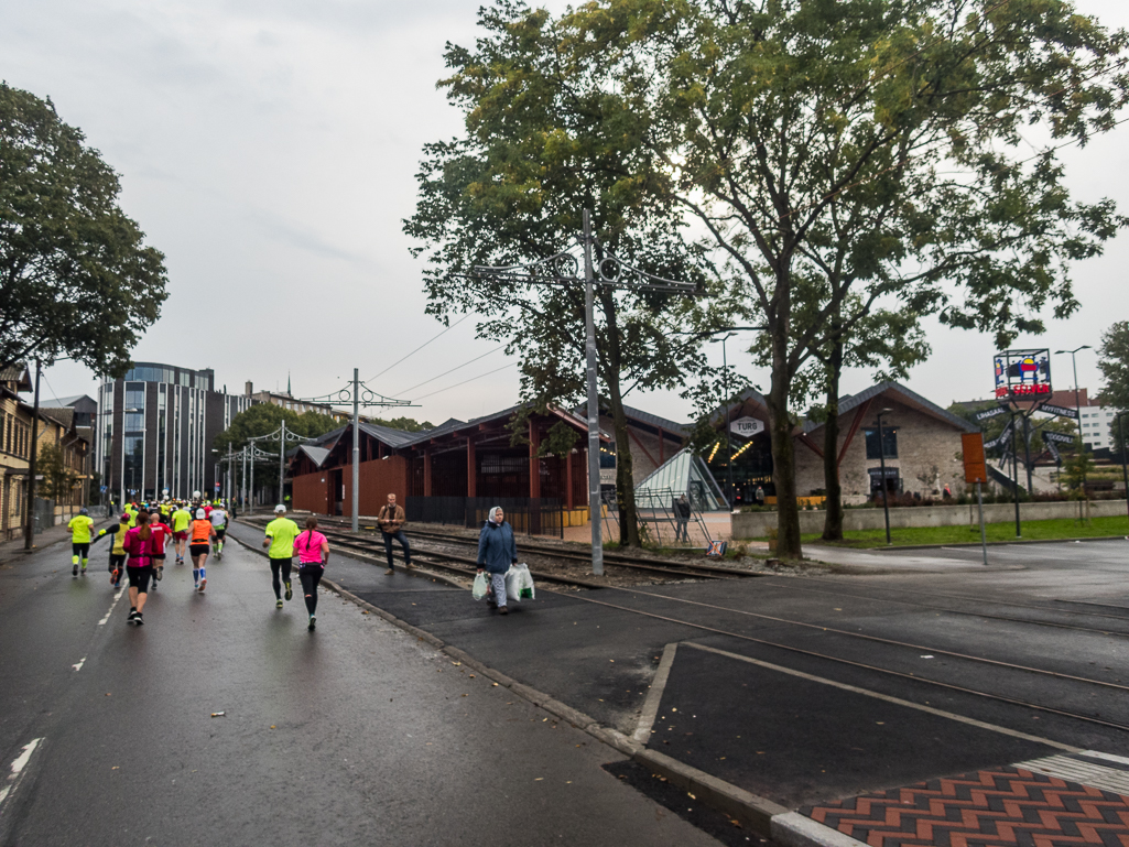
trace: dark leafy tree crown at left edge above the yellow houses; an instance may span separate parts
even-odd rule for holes
[[[0,84],[0,367],[65,356],[121,376],[167,297],[164,256],[84,140],[51,101]]]

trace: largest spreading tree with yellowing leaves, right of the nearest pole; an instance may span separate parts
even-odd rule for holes
[[[559,29],[554,61],[631,116],[632,180],[768,326],[782,556],[802,553],[789,396],[817,350],[887,302],[1001,344],[1039,331],[1126,224],[1074,200],[1058,158],[1129,88],[1127,35],[1068,0],[594,0]]]

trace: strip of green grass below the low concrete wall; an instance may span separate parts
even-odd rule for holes
[[[1089,539],[1103,535],[1129,534],[1129,518],[1095,517],[1087,523],[1070,518],[1054,521],[1025,521],[1022,524],[1023,535],[1027,541],[1054,539]],[[1015,541],[1015,522],[986,524],[984,531],[989,541]],[[885,530],[860,530],[843,533],[843,547],[872,548],[886,545]],[[891,530],[890,538],[894,547],[913,544],[961,544],[979,543],[980,526],[913,526],[904,530]],[[763,541],[763,539],[761,539]],[[805,543],[828,543],[820,541],[819,534],[804,535]]]

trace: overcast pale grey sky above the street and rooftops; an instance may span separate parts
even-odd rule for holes
[[[434,422],[515,401],[517,370],[474,339],[473,317],[388,369],[443,329],[423,314],[401,220],[414,210],[422,145],[460,130],[435,82],[445,42],[473,41],[478,6],[0,0],[0,78],[50,96],[86,132],[122,175],[126,213],[167,256],[170,296],[135,360],[211,367],[233,392],[246,381],[285,388],[290,375],[297,396],[338,390],[353,367],[366,379],[386,372],[369,385],[406,392],[421,405],[411,413]],[[1129,27],[1124,0],[1077,6]],[[1129,210],[1127,141],[1129,124],[1064,151],[1079,199],[1112,197]],[[1129,234],[1076,268],[1075,316],[1015,346],[1096,347],[1129,317],[1127,267]],[[990,338],[934,325],[930,342],[912,388],[942,404],[989,395]],[[738,350],[730,341],[730,361]],[[1078,356],[1083,387],[1100,382],[1094,360]],[[1054,366],[1056,386],[1069,387],[1069,357]],[[747,357],[742,369],[768,387]],[[47,396],[94,394],[91,374],[75,365],[46,376]],[[868,384],[867,373],[843,381],[846,392]],[[630,401],[680,420],[690,413],[673,394]]]

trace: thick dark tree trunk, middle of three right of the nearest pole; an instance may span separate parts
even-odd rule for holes
[[[788,414],[787,323],[772,328],[772,390],[765,400],[769,407],[769,431],[772,437],[772,481],[777,494],[777,553],[781,559],[802,559],[799,541],[799,507],[796,503],[796,446]]]

